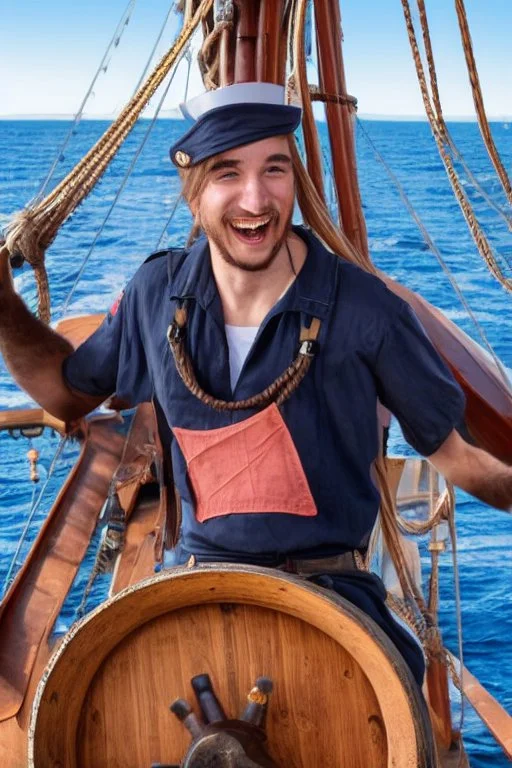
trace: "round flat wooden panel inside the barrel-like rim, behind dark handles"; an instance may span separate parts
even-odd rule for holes
[[[343,756],[345,768],[386,768],[382,714],[353,658],[299,619],[243,605],[185,608],[126,638],[87,694],[77,766],[178,763],[190,737],[169,703],[193,703],[190,679],[202,672],[235,718],[256,677],[274,680],[267,731],[277,765],[337,768]]]

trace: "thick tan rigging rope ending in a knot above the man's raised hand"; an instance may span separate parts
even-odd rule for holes
[[[21,254],[34,268],[41,319],[47,322],[50,319],[50,296],[44,264],[46,248],[55,238],[61,224],[99,180],[212,3],[213,0],[201,0],[190,22],[183,26],[171,49],[135,97],[71,173],[41,203],[29,206],[11,222],[7,232],[7,246],[11,254]]]

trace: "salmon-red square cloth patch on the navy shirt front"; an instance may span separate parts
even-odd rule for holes
[[[275,404],[229,427],[176,427],[173,433],[187,462],[200,523],[255,512],[318,514],[299,455]]]

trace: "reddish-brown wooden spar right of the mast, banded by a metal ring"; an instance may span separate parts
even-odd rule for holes
[[[316,40],[320,88],[335,97],[346,96],[341,51],[339,0],[315,0]],[[334,182],[338,196],[340,225],[352,245],[369,261],[353,137],[351,107],[347,103],[327,102],[325,112],[329,129]]]

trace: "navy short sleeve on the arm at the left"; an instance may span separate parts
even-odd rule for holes
[[[89,395],[116,394],[135,406],[151,400],[152,385],[140,335],[136,290],[130,283],[117,308],[63,365],[68,384]]]

